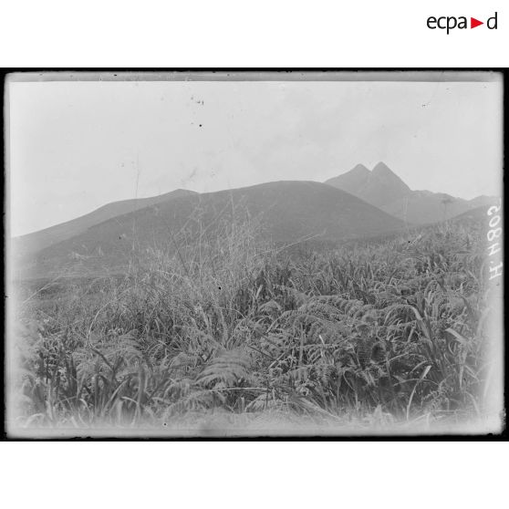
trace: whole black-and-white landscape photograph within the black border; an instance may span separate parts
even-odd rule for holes
[[[504,430],[504,77],[5,77],[12,438]]]

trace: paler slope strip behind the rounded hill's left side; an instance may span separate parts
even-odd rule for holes
[[[82,234],[94,224],[108,221],[118,215],[130,213],[156,203],[167,202],[173,198],[189,196],[191,194],[196,193],[193,191],[177,189],[176,191],[161,194],[159,196],[153,196],[151,198],[139,198],[109,203],[92,213],[82,215],[76,219],[67,221],[66,223],[60,223],[33,234],[16,237],[13,239],[14,248],[16,253],[23,256],[34,254],[51,244],[57,244],[68,238]]]

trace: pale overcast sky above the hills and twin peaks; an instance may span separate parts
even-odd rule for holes
[[[500,193],[502,84],[9,84],[11,234],[184,188],[325,181],[384,161],[411,189]]]

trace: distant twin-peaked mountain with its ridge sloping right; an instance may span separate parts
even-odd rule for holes
[[[373,171],[358,164],[326,183],[350,192],[405,222],[415,224],[436,223],[493,203],[493,198],[489,196],[478,196],[468,201],[443,192],[412,191],[383,162],[379,162]]]

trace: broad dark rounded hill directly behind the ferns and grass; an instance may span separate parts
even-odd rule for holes
[[[399,219],[357,197],[319,182],[270,182],[233,191],[172,198],[116,216],[39,252],[26,266],[31,276],[71,271],[117,270],[133,253],[172,249],[199,235],[221,234],[224,223],[260,224],[260,236],[276,243],[316,238],[339,241],[399,230]]]

